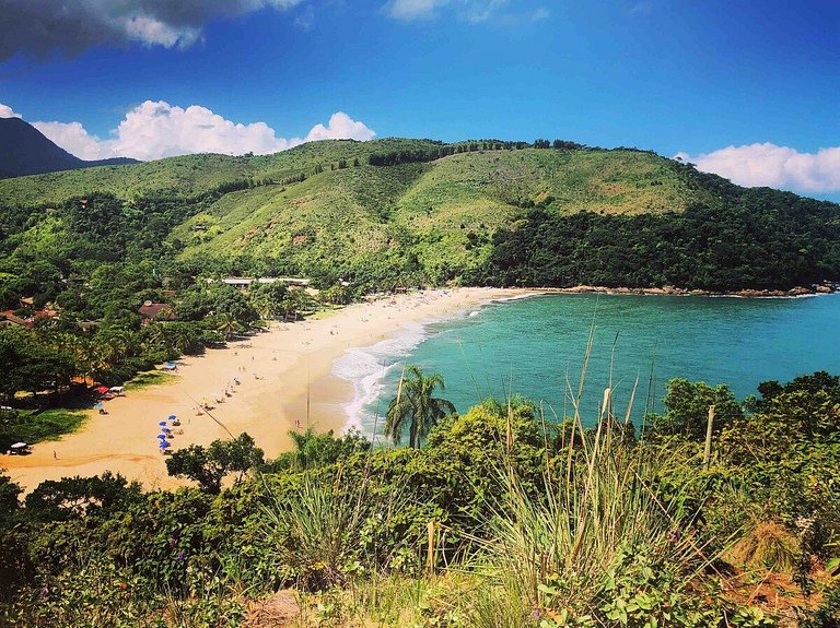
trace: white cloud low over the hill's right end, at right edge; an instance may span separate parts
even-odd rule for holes
[[[748,144],[727,146],[696,156],[676,155],[704,173],[726,177],[739,186],[768,186],[801,192],[840,191],[840,146],[800,153],[788,146]]]

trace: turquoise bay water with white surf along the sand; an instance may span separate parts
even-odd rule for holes
[[[538,296],[417,324],[373,347],[350,351],[334,369],[354,382],[348,425],[373,434],[408,363],[441,372],[442,396],[460,412],[512,392],[544,402],[549,416],[570,414],[567,391],[578,389],[591,329],[582,404],[587,424],[595,422],[610,378],[617,413],[623,414],[637,387],[639,417],[645,405],[662,410],[665,383],[674,377],[727,383],[744,398],[766,380],[815,370],[840,374],[840,295]]]

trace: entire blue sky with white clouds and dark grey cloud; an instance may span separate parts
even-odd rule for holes
[[[0,0],[0,117],[86,159],[556,138],[840,201],[840,0]]]

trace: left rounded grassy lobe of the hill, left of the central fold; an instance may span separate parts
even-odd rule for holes
[[[222,197],[210,212],[176,228],[183,259],[248,253],[282,257],[302,268],[382,254],[395,237],[389,204],[428,166],[325,170],[289,187],[266,186]],[[203,230],[196,230],[202,226]]]

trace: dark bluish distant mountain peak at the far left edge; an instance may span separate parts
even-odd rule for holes
[[[0,178],[136,163],[127,157],[85,162],[20,118],[0,118]]]

